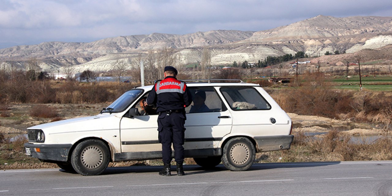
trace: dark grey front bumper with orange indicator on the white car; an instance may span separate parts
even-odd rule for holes
[[[33,144],[25,143],[25,151],[29,156],[43,161],[61,161],[68,159],[72,144]]]

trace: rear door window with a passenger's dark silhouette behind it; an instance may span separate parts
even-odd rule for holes
[[[213,87],[189,87],[192,104],[185,108],[187,113],[221,112],[227,108]]]

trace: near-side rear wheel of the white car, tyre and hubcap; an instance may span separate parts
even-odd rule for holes
[[[223,147],[222,163],[231,171],[245,171],[252,166],[256,151],[248,138],[231,138]]]

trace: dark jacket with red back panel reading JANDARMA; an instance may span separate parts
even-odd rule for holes
[[[174,76],[166,76],[155,83],[146,102],[148,105],[156,103],[157,112],[182,110],[191,105],[192,96],[185,82]]]

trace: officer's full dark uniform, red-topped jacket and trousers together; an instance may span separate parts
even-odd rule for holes
[[[170,164],[172,159],[171,144],[174,148],[174,159],[177,164],[184,161],[185,107],[192,103],[192,96],[187,85],[174,76],[167,76],[155,83],[149,93],[147,104],[156,103],[158,116],[158,139],[162,143],[162,161]]]

